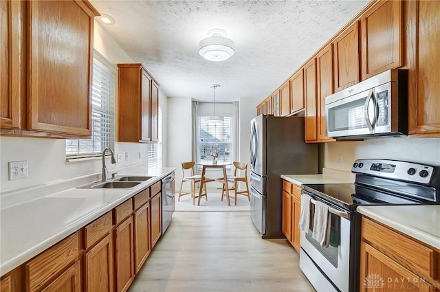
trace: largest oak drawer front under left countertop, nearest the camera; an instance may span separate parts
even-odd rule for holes
[[[39,290],[50,278],[78,260],[78,232],[50,247],[25,264],[27,291]]]

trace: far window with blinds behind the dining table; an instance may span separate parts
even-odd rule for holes
[[[208,124],[206,117],[199,117],[199,157],[197,161],[211,162],[212,153],[217,160],[232,162],[232,117],[225,116],[223,124]]]

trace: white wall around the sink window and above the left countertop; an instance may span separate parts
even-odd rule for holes
[[[133,59],[124,52],[118,43],[96,21],[94,48],[111,63],[133,63]],[[164,120],[166,121],[166,96],[160,90],[159,104],[164,109]],[[166,122],[164,123],[164,128],[166,128]],[[167,141],[164,143],[164,157],[166,157]],[[118,162],[118,164],[111,164],[109,159],[107,159],[109,171],[122,166],[139,163],[146,165],[147,163],[148,148],[146,144],[116,142],[115,153],[122,154],[122,161]],[[124,159],[125,153],[129,155],[126,161]],[[142,154],[142,159],[139,159],[139,153]],[[9,181],[8,162],[20,160],[28,161],[28,179]],[[67,162],[64,139],[34,137],[0,137],[0,161],[0,194],[81,175],[100,173],[102,167],[101,159]]]

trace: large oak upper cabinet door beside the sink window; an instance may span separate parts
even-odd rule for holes
[[[90,136],[95,15],[83,1],[27,5],[28,128]]]

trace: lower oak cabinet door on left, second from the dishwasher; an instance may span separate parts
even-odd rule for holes
[[[150,205],[146,203],[133,213],[135,273],[138,273],[151,251]]]

